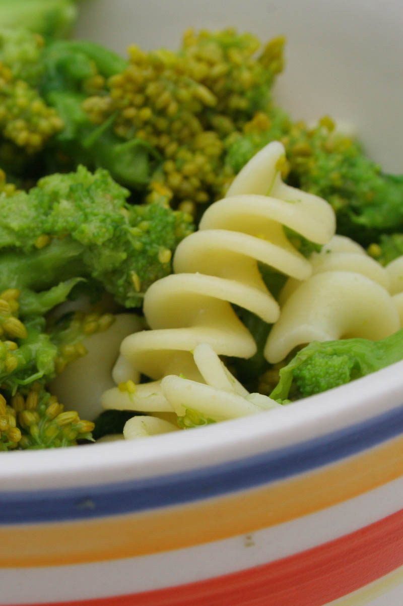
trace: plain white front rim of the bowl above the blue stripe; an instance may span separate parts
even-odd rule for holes
[[[242,461],[260,452],[303,445],[403,405],[403,361],[349,384],[258,416],[152,436],[74,448],[1,453],[0,494],[114,484]],[[258,418],[258,423],[256,422]]]

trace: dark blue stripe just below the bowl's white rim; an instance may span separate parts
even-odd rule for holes
[[[214,467],[88,488],[0,493],[0,524],[97,518],[198,501],[322,467],[401,433],[403,405],[320,438]]]

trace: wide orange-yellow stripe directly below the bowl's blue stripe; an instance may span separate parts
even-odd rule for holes
[[[323,510],[403,475],[403,438],[304,476],[148,513],[0,528],[0,567],[131,558],[251,533]],[[113,498],[113,496],[111,496]]]

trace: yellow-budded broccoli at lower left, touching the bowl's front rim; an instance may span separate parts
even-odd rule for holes
[[[76,312],[48,321],[28,316],[23,323],[21,303],[15,288],[0,294],[0,451],[92,439],[94,424],[75,411],[64,412],[46,385],[87,353],[83,339],[107,330],[114,316]]]

